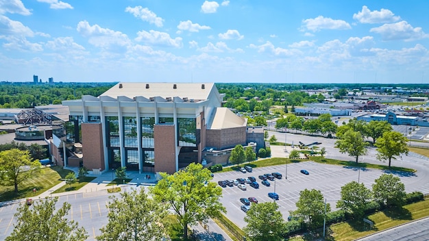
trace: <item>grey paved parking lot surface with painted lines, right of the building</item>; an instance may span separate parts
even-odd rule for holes
[[[299,172],[301,169],[306,169],[310,175],[304,175]],[[260,184],[260,179],[258,175],[264,173],[273,173],[278,172],[283,175],[282,179],[275,179],[275,181],[270,181],[271,186],[266,187]],[[334,165],[324,165],[318,164],[315,162],[299,162],[294,164],[287,165],[287,179],[285,179],[286,174],[286,165],[278,166],[267,166],[262,168],[254,168],[252,173],[241,173],[238,171],[232,171],[227,173],[215,173],[214,181],[225,180],[225,179],[237,179],[237,178],[247,178],[253,176],[256,178],[256,181],[260,184],[258,189],[252,188],[249,184],[246,184],[247,190],[243,191],[237,188],[237,186],[223,188],[223,197],[221,202],[226,207],[227,216],[232,220],[233,223],[236,223],[238,227],[243,228],[246,223],[243,218],[245,217],[245,212],[243,212],[240,207],[243,205],[239,199],[241,197],[248,198],[249,196],[254,196],[258,199],[258,202],[267,202],[273,201],[268,197],[268,192],[275,192],[279,195],[279,200],[277,201],[280,206],[279,210],[283,214],[283,218],[289,216],[289,211],[295,210],[295,203],[299,199],[299,192],[304,189],[315,188],[321,190],[323,196],[330,203],[332,210],[336,210],[336,200],[340,199],[341,186],[344,186],[345,183],[350,181],[360,181],[360,183],[365,183],[367,188],[371,188],[371,185],[374,179],[377,179],[384,173],[382,170],[378,169],[368,169],[368,168],[347,168],[343,166],[334,166]],[[406,186],[406,192],[412,192],[413,185],[408,185],[411,183],[411,179],[415,177],[414,175],[403,175],[401,173],[394,173],[402,179]]]

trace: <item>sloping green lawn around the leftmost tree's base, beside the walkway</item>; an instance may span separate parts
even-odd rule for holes
[[[14,186],[0,186],[0,201],[9,201],[14,199],[23,199],[29,196],[37,196],[42,192],[46,192],[49,188],[56,186],[61,182],[61,179],[66,177],[71,170],[65,170],[60,166],[52,166],[43,168],[42,173],[36,177],[32,177],[19,183],[18,193],[14,193]],[[36,188],[36,192],[33,189]]]

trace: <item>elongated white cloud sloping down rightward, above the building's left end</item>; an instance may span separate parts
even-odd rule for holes
[[[88,38],[88,42],[96,47],[109,48],[111,45],[126,46],[130,44],[130,39],[121,31],[102,28],[96,24],[90,26],[87,21],[80,21],[77,24],[77,32]]]

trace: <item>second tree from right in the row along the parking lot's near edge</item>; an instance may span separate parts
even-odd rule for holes
[[[341,200],[336,203],[336,207],[353,214],[354,218],[362,218],[370,201],[371,190],[363,183],[352,181],[341,187]]]

